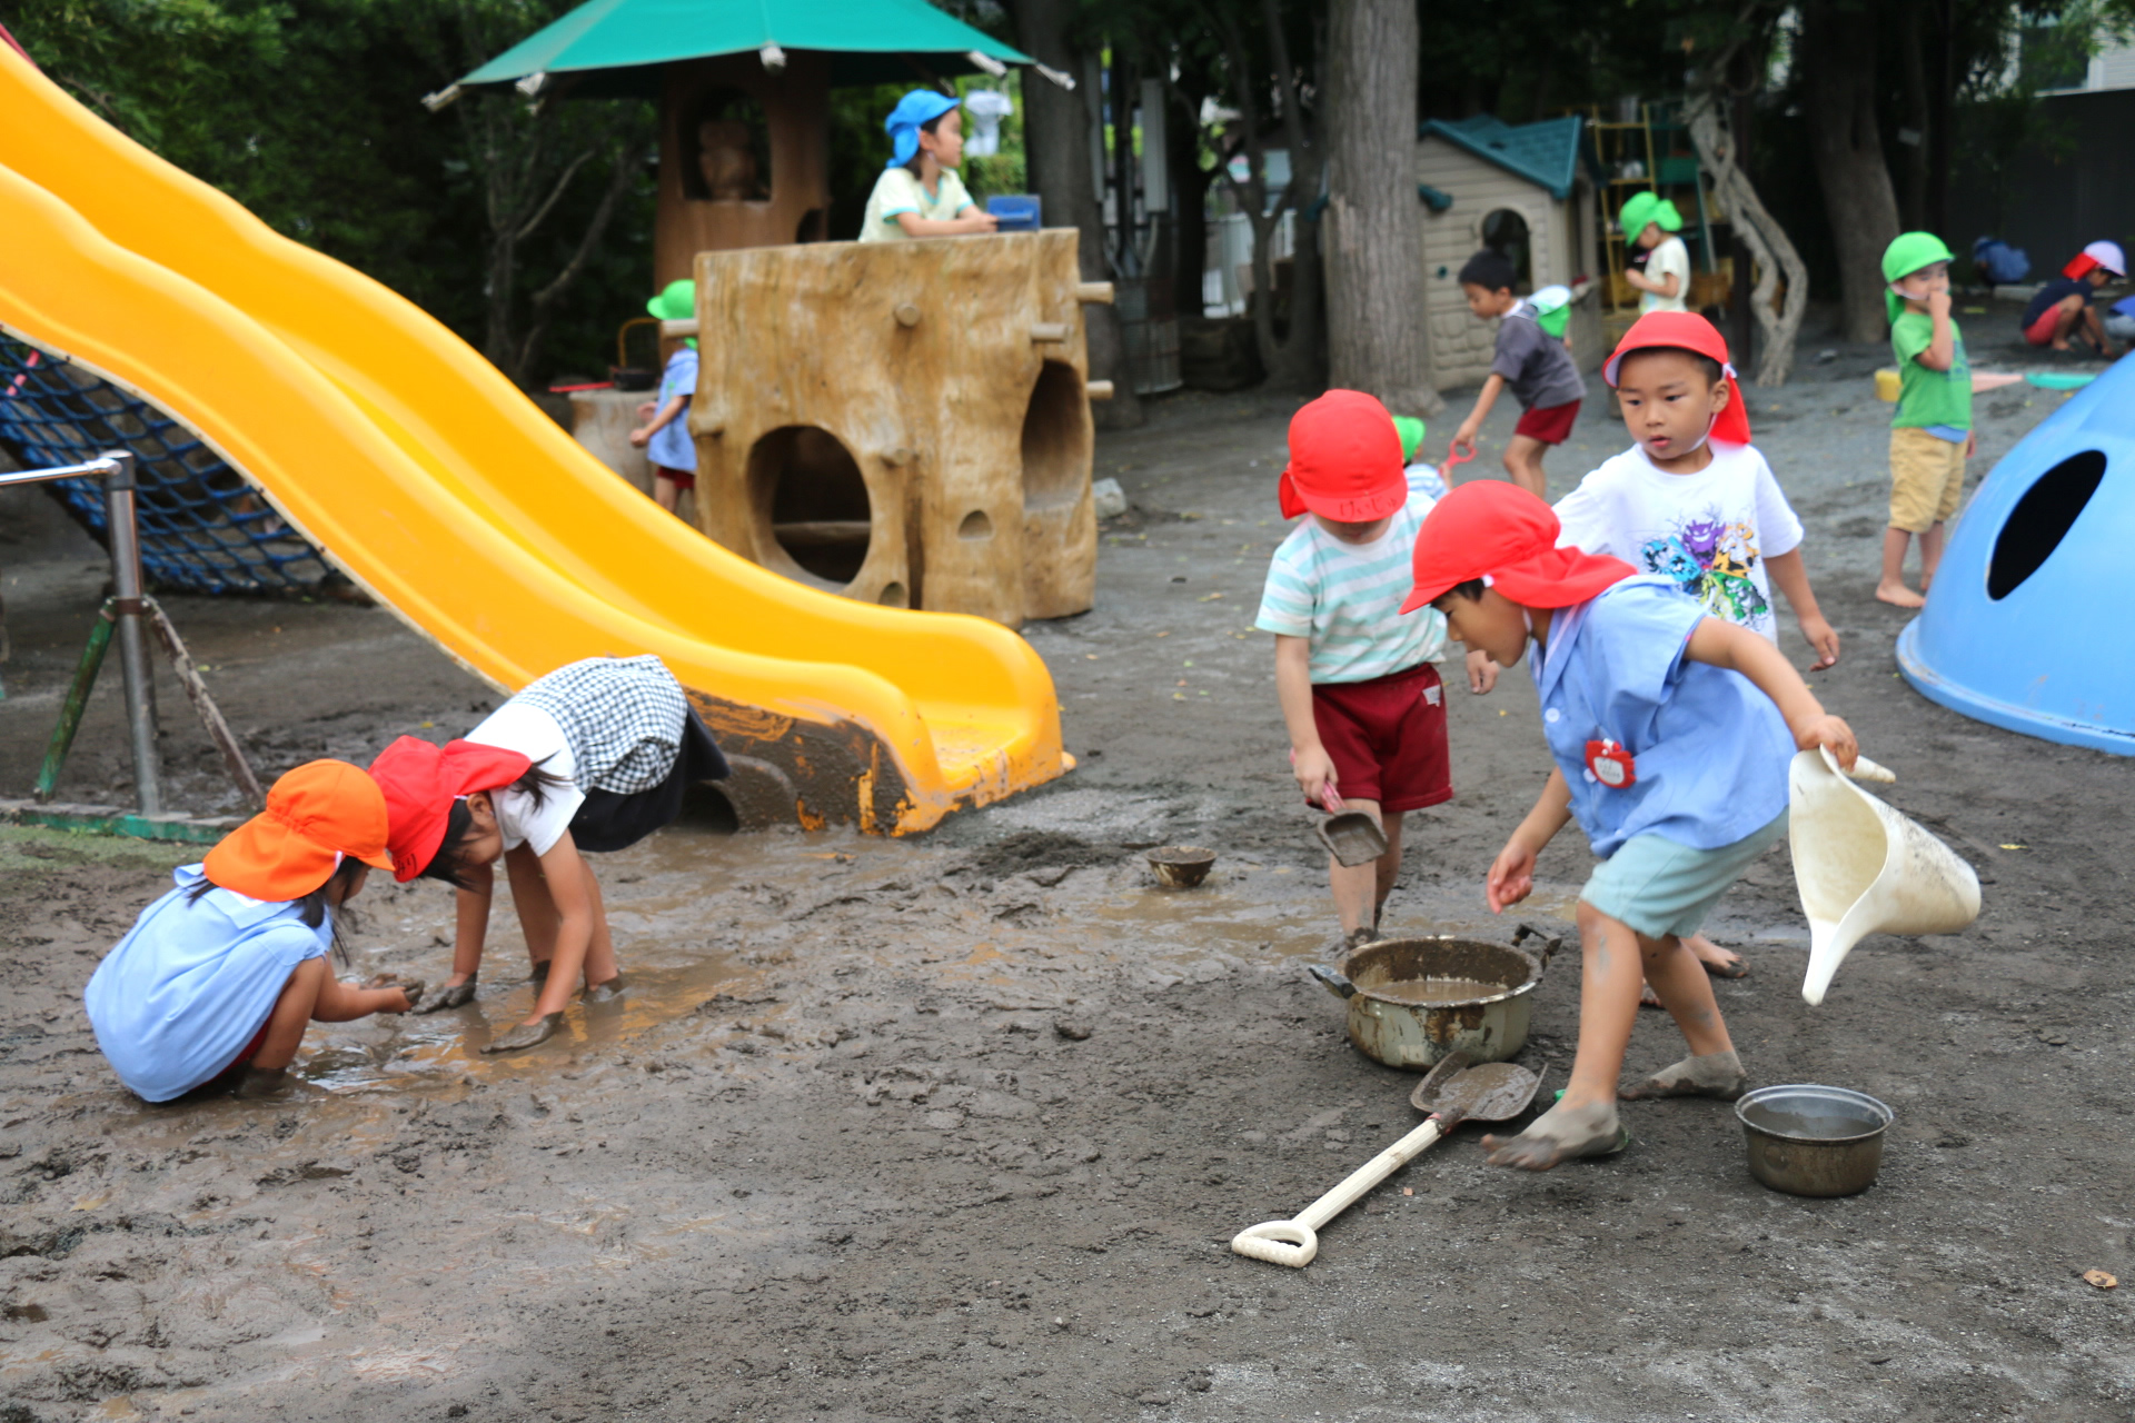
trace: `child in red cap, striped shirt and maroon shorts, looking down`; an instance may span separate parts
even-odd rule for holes
[[[1253,623],[1275,634],[1292,770],[1307,804],[1339,796],[1386,830],[1377,862],[1328,860],[1343,941],[1356,947],[1379,937],[1401,873],[1403,813],[1454,794],[1445,689],[1430,666],[1445,655],[1445,623],[1435,612],[1394,617],[1430,495],[1409,484],[1386,405],[1328,390],[1290,422],[1277,497],[1285,518],[1309,514],[1275,550]],[[1471,655],[1469,687],[1492,683],[1497,668]]]

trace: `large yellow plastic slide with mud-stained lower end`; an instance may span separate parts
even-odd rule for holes
[[[805,826],[924,830],[1072,766],[1023,638],[726,553],[421,309],[275,235],[4,45],[0,164],[0,326],[188,425],[491,683],[658,653],[739,753],[737,787]]]

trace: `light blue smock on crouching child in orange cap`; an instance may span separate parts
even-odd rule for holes
[[[81,994],[111,1069],[147,1101],[171,1101],[216,1077],[267,1026],[288,975],[333,945],[333,915],[307,928],[295,902],[209,890],[186,902],[205,875],[171,875],[177,888],[141,911],[96,964]]]

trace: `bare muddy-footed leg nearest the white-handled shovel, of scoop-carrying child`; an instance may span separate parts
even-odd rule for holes
[[[1584,962],[1580,1048],[1571,1058],[1571,1082],[1559,1103],[1518,1137],[1482,1139],[1494,1167],[1548,1171],[1561,1161],[1606,1156],[1623,1146],[1623,1129],[1616,1122],[1616,1077],[1623,1073],[1623,1050],[1638,1020],[1644,954],[1629,924],[1618,924],[1586,900],[1580,900],[1578,926]]]

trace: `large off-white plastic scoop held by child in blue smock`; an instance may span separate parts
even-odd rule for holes
[[[1855,777],[1896,781],[1862,757]],[[1979,917],[1979,875],[1954,849],[1889,809],[1823,747],[1787,770],[1793,883],[1808,915],[1802,996],[1823,1003],[1832,975],[1868,934],[1951,934]]]

